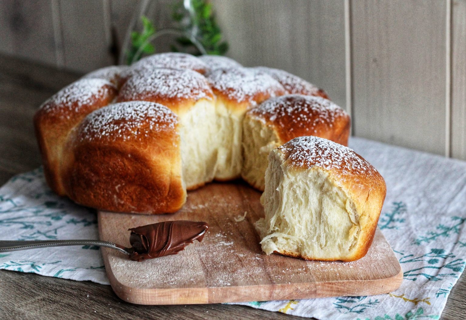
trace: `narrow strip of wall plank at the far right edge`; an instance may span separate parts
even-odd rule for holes
[[[452,1],[452,157],[466,160],[466,1]]]

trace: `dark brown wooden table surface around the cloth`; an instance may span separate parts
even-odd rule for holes
[[[32,117],[79,74],[0,56],[0,185],[41,165]],[[466,313],[466,278],[453,287],[442,319]],[[1,319],[306,319],[251,307],[211,304],[137,306],[110,286],[0,270]]]

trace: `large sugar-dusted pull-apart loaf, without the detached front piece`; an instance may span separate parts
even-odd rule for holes
[[[89,207],[135,213],[174,212],[184,203],[186,189],[236,179],[242,171],[262,189],[267,148],[319,132],[345,143],[340,118],[322,124],[305,118],[327,119],[334,113],[327,100],[316,108],[320,115],[312,108],[303,111],[298,103],[287,107],[296,108],[289,114],[280,107],[247,113],[287,93],[324,94],[290,73],[245,68],[220,56],[160,53],[129,67],[98,69],[56,93],[35,115],[48,184]],[[158,104],[176,117],[170,126]],[[98,133],[109,127],[111,134]],[[141,140],[117,134],[132,130],[137,135],[147,128],[153,132]],[[257,140],[262,132],[276,137]]]

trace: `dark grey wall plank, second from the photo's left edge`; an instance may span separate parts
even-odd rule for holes
[[[65,68],[85,73],[113,64],[109,10],[103,0],[60,0]]]

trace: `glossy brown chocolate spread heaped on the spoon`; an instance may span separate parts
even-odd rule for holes
[[[133,247],[131,260],[142,261],[177,254],[194,240],[199,242],[209,226],[200,221],[164,221],[128,229]]]

